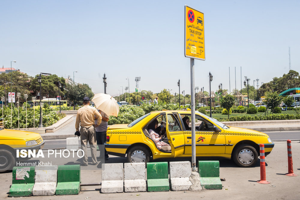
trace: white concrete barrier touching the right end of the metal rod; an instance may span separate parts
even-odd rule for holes
[[[101,193],[122,193],[123,180],[123,163],[102,164]]]

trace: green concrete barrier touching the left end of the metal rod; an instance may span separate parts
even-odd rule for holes
[[[79,194],[80,165],[59,165],[57,170],[56,195]]]

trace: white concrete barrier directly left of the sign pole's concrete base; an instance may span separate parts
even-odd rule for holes
[[[188,190],[192,183],[189,180],[192,169],[190,161],[170,162],[171,190]]]

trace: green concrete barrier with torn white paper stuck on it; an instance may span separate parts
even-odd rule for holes
[[[32,196],[35,184],[35,167],[13,167],[13,180],[8,196]]]

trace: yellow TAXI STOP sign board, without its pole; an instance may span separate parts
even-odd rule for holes
[[[204,14],[184,6],[184,56],[205,60]]]

